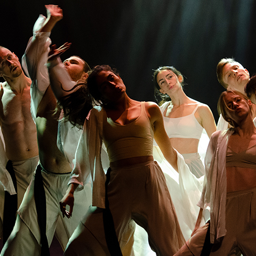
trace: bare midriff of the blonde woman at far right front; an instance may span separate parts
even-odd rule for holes
[[[256,169],[227,166],[227,193],[256,187]]]

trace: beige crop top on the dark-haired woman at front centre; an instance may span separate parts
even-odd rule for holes
[[[121,125],[107,118],[103,123],[103,141],[110,162],[153,155],[154,132],[141,102],[141,113],[133,122]]]

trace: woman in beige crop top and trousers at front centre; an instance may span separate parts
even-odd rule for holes
[[[69,217],[65,207],[70,205],[72,208],[74,190],[80,189],[83,180],[91,176],[93,205],[97,207],[91,207],[87,212],[70,238],[65,255],[110,255],[111,250],[116,252],[118,243],[113,249],[113,243],[106,242],[113,238],[109,236],[111,228],[106,227],[109,219],[102,222],[102,215],[106,217],[109,213],[108,203],[114,219],[114,234],[121,249],[121,236],[133,219],[147,230],[150,246],[157,255],[175,253],[184,238],[164,175],[153,161],[153,137],[175,170],[178,170],[177,153],[170,140],[166,140],[159,108],[153,102],[130,99],[122,79],[108,66],[95,67],[87,79],[87,86],[94,99],[103,102],[103,108],[94,107],[85,121],[75,169],[67,194],[61,201],[61,209]],[[110,178],[109,183],[106,182],[107,194],[106,175],[100,164],[102,139],[111,169],[107,173],[107,179]],[[88,162],[90,166],[85,164]],[[107,209],[103,210],[105,207]]]

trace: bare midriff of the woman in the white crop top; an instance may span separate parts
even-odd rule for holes
[[[198,139],[192,138],[170,138],[173,148],[175,148],[180,154],[197,153],[198,151]]]

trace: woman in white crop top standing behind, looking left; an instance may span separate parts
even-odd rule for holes
[[[212,111],[207,105],[187,97],[182,89],[184,84],[183,76],[173,66],[159,67],[155,70],[153,77],[155,96],[156,99],[159,99],[159,97],[162,99],[159,106],[162,106],[165,129],[169,134],[172,145],[183,155],[190,171],[199,178],[204,174],[202,162],[200,159],[196,159],[200,158],[199,154],[197,154],[199,138],[203,128],[209,138],[216,131]],[[196,110],[195,113],[194,110]],[[191,114],[194,114],[194,119],[188,121],[191,124],[184,124],[188,127],[183,132],[184,134],[180,134],[182,131],[180,131],[178,124],[181,122],[180,125],[182,125],[182,117],[187,118]],[[167,123],[170,122],[175,122],[172,125],[173,127],[167,127]],[[183,122],[186,121],[183,120]],[[169,131],[168,128],[172,130]],[[193,163],[194,159],[195,163]]]

